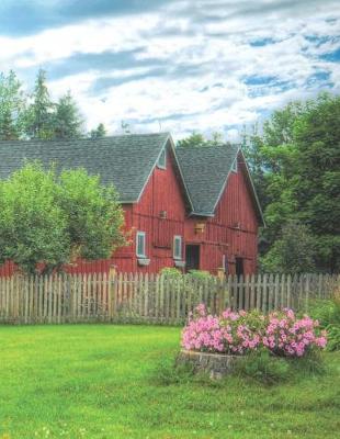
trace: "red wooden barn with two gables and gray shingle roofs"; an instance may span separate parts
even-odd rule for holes
[[[84,167],[113,183],[132,243],[111,259],[79,261],[76,272],[158,272],[163,267],[252,273],[259,201],[238,146],[175,148],[167,133],[99,139],[0,142],[0,178],[25,160]],[[0,274],[9,271],[9,263]]]

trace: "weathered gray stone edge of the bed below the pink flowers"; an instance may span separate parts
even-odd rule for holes
[[[195,372],[204,371],[212,379],[222,379],[229,374],[235,363],[241,360],[241,356],[228,356],[226,353],[196,352],[182,349],[177,358],[178,363],[189,363]]]

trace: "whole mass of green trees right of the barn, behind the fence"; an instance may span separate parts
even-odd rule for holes
[[[324,93],[275,111],[262,134],[254,128],[245,135],[243,149],[268,225],[261,239],[264,254],[272,250],[274,258],[284,259],[285,249],[276,241],[288,222],[299,221],[314,239],[316,269],[339,270],[339,130],[340,97]],[[310,258],[306,262],[301,263],[303,271],[309,269]]]

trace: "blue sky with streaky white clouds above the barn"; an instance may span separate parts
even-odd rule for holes
[[[340,89],[338,0],[1,0],[0,71],[47,70],[87,128],[220,132]]]

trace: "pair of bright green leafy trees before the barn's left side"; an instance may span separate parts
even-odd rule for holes
[[[113,188],[82,169],[45,171],[26,164],[0,182],[0,261],[29,273],[50,271],[75,257],[107,258],[124,243],[123,212]]]

